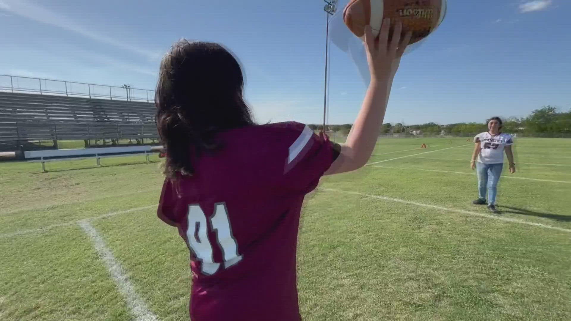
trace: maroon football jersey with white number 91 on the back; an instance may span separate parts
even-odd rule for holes
[[[191,319],[300,320],[301,206],[339,145],[296,122],[217,138],[222,149],[194,159],[194,175],[164,182],[158,208],[191,253]]]

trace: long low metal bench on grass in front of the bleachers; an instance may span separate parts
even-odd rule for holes
[[[69,159],[86,159],[95,157],[97,166],[101,166],[103,157],[122,157],[128,155],[144,154],[147,162],[152,153],[151,146],[103,147],[95,149],[65,149],[65,150],[34,150],[25,151],[24,158],[28,162],[42,162],[42,170],[46,171],[46,162]]]

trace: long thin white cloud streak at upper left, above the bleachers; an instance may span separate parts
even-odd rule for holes
[[[0,0],[0,9],[33,21],[46,23],[47,25],[59,27],[64,30],[83,35],[83,37],[92,39],[94,41],[107,43],[108,45],[115,46],[119,49],[137,53],[147,57],[148,59],[155,60],[161,56],[159,53],[143,49],[139,46],[129,45],[123,41],[119,41],[118,39],[99,34],[97,31],[90,30],[82,25],[79,25],[79,23],[72,21],[70,18],[67,18],[64,15],[55,13],[54,11],[51,11],[45,7],[41,7],[35,3],[31,3],[27,0]]]

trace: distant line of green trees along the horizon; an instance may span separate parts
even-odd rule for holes
[[[571,134],[571,109],[560,112],[557,107],[544,106],[532,111],[524,118],[507,118],[504,121],[504,133],[510,134],[542,134],[558,135]],[[323,125],[308,125],[309,128],[319,131]],[[351,124],[327,125],[327,130],[334,133],[347,135],[351,131]],[[467,135],[481,133],[488,130],[484,122],[454,123],[439,125],[437,123],[425,123],[421,125],[403,125],[402,123],[384,123],[381,134],[412,134],[412,135]]]

